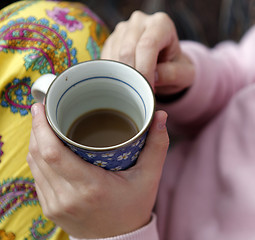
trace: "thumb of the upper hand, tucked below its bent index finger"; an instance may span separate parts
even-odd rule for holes
[[[194,66],[188,57],[182,55],[178,60],[157,65],[157,94],[169,95],[182,91],[193,84]]]

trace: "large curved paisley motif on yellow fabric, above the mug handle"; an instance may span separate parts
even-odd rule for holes
[[[76,49],[67,33],[47,19],[17,19],[0,28],[0,50],[6,53],[25,52],[26,69],[41,74],[60,74],[77,63]]]

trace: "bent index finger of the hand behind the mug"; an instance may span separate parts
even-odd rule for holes
[[[135,52],[135,68],[148,79],[153,88],[155,71],[162,51],[168,54],[165,61],[173,60],[180,54],[172,21],[165,13],[156,13],[148,16]]]

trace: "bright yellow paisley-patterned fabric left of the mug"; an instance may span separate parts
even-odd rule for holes
[[[33,82],[96,59],[108,30],[85,5],[19,1],[0,11],[0,239],[68,239],[42,213],[26,163]]]

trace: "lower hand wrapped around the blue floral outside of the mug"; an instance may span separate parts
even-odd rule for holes
[[[87,163],[65,147],[42,104],[32,114],[27,162],[49,219],[77,238],[116,236],[150,221],[169,143],[165,112],[156,112],[137,164],[120,172]]]

